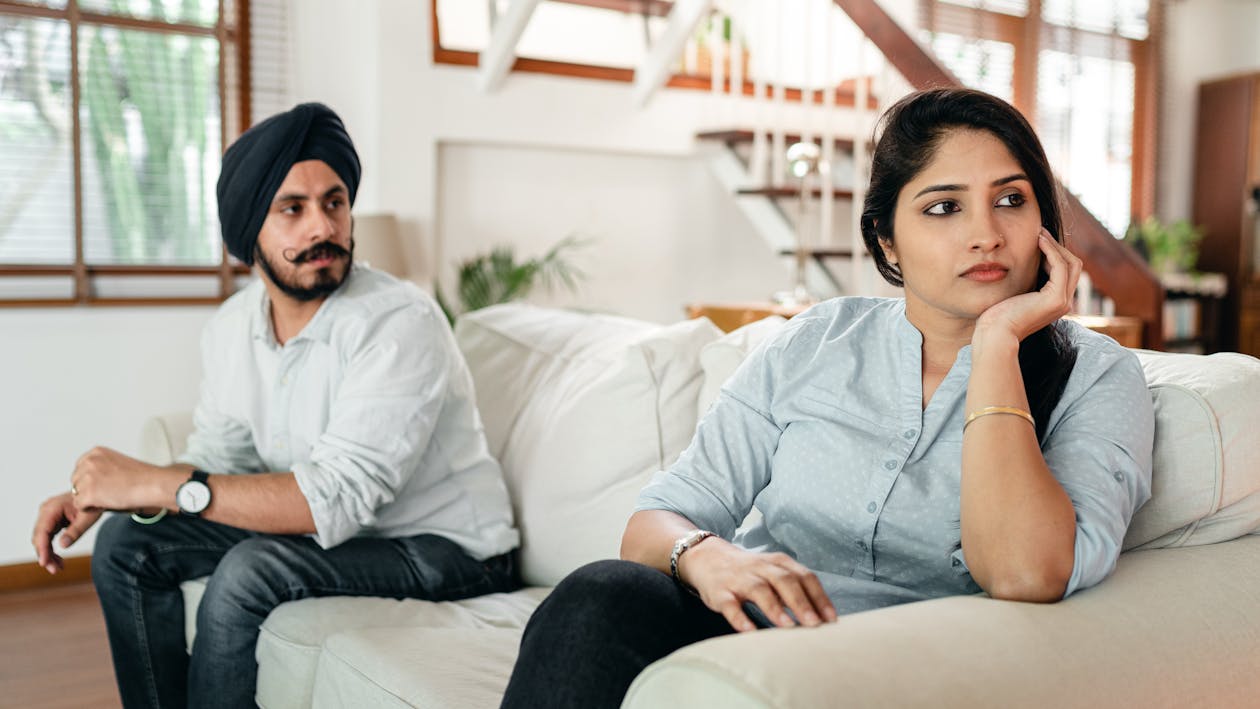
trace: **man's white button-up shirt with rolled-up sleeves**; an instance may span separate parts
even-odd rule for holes
[[[355,266],[284,345],[270,309],[256,281],[207,325],[180,462],[292,471],[324,548],[430,533],[485,559],[519,544],[472,378],[432,297]]]

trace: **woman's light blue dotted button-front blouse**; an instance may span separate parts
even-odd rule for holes
[[[1154,412],[1131,351],[1076,324],[1067,332],[1076,366],[1041,447],[1076,508],[1072,593],[1111,572],[1150,496]],[[921,355],[901,298],[810,309],[748,355],[636,509],[790,554],[842,613],[979,592],[959,515],[971,349],[926,408]],[[762,519],[737,533],[753,504]]]

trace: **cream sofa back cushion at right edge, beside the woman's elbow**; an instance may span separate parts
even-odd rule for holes
[[[1125,549],[1215,544],[1260,529],[1260,360],[1138,358],[1155,404],[1154,476]]]

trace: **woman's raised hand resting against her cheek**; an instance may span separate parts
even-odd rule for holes
[[[1016,343],[1071,312],[1081,259],[1056,242],[1045,228],[1037,238],[1050,281],[1038,291],[998,302],[980,314],[971,336],[973,345],[988,337],[1014,336]]]

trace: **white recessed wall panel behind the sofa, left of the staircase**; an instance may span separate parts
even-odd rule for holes
[[[498,244],[541,256],[571,234],[591,242],[575,254],[581,292],[536,302],[673,322],[688,302],[765,300],[791,282],[701,160],[446,144],[438,184],[447,295],[459,261]]]

